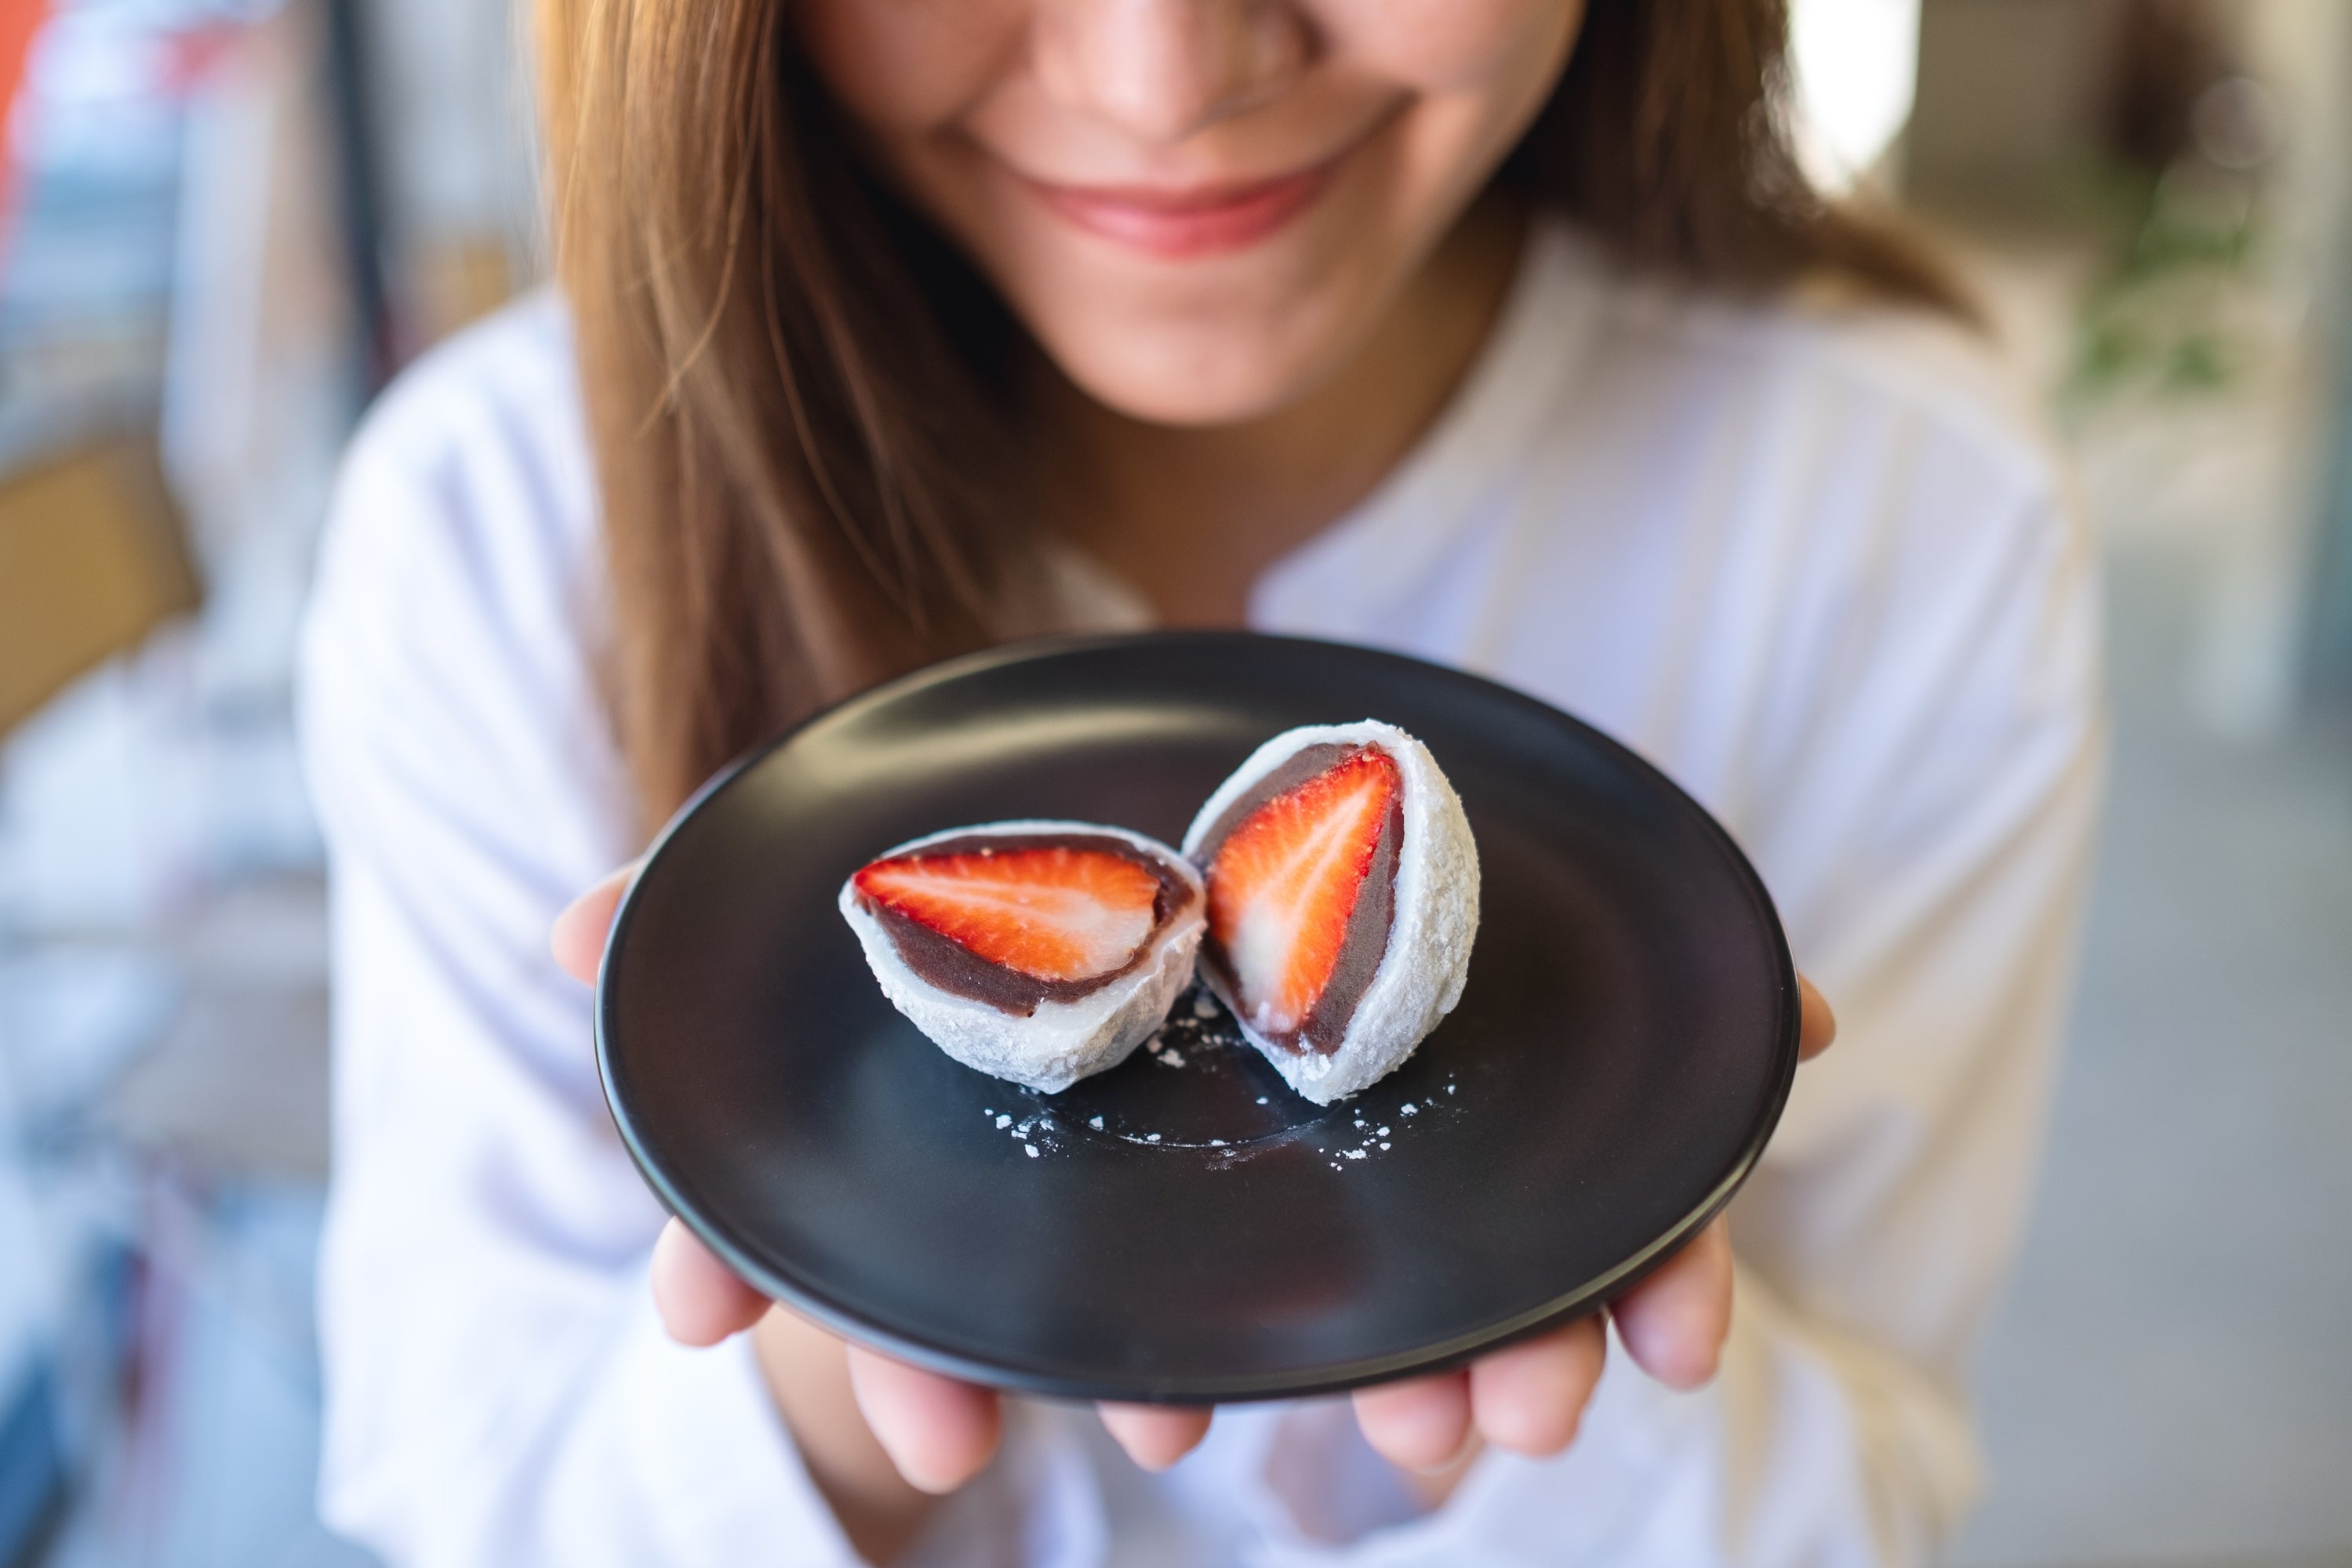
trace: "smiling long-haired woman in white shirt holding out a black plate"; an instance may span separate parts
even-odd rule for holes
[[[1933,1549],[2063,1006],[2093,595],[1950,289],[1797,176],[1780,31],[546,0],[562,303],[369,418],[306,646],[332,1521],[426,1566]],[[1209,1429],[847,1349],[661,1229],[579,985],[619,882],[550,961],[557,912],[833,696],[1145,623],[1475,668],[1733,827],[1846,1032],[1736,1251],[1613,1335]]]

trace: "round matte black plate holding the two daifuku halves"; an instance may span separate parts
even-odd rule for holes
[[[1362,717],[1461,790],[1482,917],[1454,1016],[1336,1107],[1190,997],[1160,1051],[1068,1093],[971,1072],[833,905],[962,823],[1174,844],[1261,741]],[[1463,1361],[1632,1284],[1771,1135],[1797,978],[1740,851],[1599,731],[1390,654],[1174,632],[936,665],[717,778],[614,922],[597,1060],[661,1199],[809,1316],[1033,1394],[1265,1399]]]

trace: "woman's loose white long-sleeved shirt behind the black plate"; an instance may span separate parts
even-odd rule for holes
[[[2096,592],[1959,329],[1731,306],[1538,230],[1437,428],[1251,625],[1399,649],[1618,736],[1731,827],[1839,1013],[1733,1206],[1717,1380],[1613,1352],[1576,1446],[1435,1512],[1345,1403],[1145,1476],[1016,1413],[924,1563],[1915,1563],[1978,1474],[1964,1371],[2032,1182],[2091,837]],[[854,1563],[743,1340],[668,1342],[661,1211],[548,924],[637,853],[597,701],[562,310],[353,444],[303,656],[334,865],[332,1523],[407,1568]]]

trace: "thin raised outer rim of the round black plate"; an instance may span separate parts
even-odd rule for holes
[[[1606,1274],[1581,1284],[1576,1291],[1555,1295],[1536,1307],[1529,1307],[1501,1324],[1489,1324],[1484,1328],[1465,1331],[1423,1345],[1418,1349],[1390,1352],[1385,1356],[1359,1356],[1355,1361],[1317,1366],[1305,1375],[1291,1373],[1242,1373],[1242,1375],[1169,1375],[1169,1378],[1136,1378],[1136,1380],[1101,1380],[1087,1375],[1056,1375],[1049,1371],[1014,1368],[990,1361],[967,1356],[962,1352],[924,1342],[896,1328],[884,1328],[873,1324],[849,1307],[830,1300],[818,1286],[800,1279],[788,1279],[769,1269],[750,1248],[739,1244],[727,1225],[703,1213],[696,1204],[684,1201],[680,1185],[661,1168],[647,1147],[644,1131],[635,1124],[626,1093],[614,1074],[614,1044],[612,1044],[612,1013],[616,1011],[616,999],[612,990],[614,957],[619,954],[628,929],[633,924],[637,891],[644,886],[654,865],[670,849],[670,842],[708,802],[717,799],[736,780],[741,780],[750,769],[764,762],[769,755],[783,750],[804,731],[816,729],[847,710],[861,705],[882,705],[896,701],[906,693],[938,686],[943,682],[964,679],[985,670],[997,670],[1004,665],[1035,663],[1044,658],[1063,658],[1073,654],[1098,654],[1110,649],[1136,649],[1148,644],[1294,644],[1305,649],[1327,649],[1348,654],[1352,658],[1371,658],[1376,663],[1406,665],[1418,672],[1437,672],[1449,679],[1470,682],[1501,693],[1503,698],[1524,705],[1541,715],[1550,724],[1569,724],[1602,750],[1613,752],[1621,764],[1632,766],[1637,773],[1646,776],[1651,783],[1663,785],[1663,795],[1684,816],[1696,818],[1703,837],[1708,837],[1715,849],[1724,856],[1733,870],[1733,879],[1745,891],[1755,912],[1759,914],[1764,929],[1771,936],[1771,954],[1778,969],[1778,1009],[1780,1030],[1773,1041],[1771,1063],[1771,1091],[1766,1105],[1759,1112],[1748,1140],[1740,1145],[1738,1154],[1729,1161],[1724,1175],[1708,1190],[1708,1194],[1693,1206],[1679,1222],[1670,1225],[1658,1239],[1644,1246],[1639,1253],[1609,1269]],[[630,1161],[637,1166],[637,1175],[654,1192],[661,1206],[677,1218],[687,1229],[696,1234],[717,1258],[736,1272],[743,1281],[757,1288],[762,1295],[779,1300],[802,1316],[814,1319],[818,1326],[861,1345],[882,1349],[913,1366],[960,1378],[964,1382],[976,1382],[983,1387],[1033,1394],[1044,1399],[1112,1399],[1131,1403],[1171,1403],[1171,1406],[1204,1406],[1204,1403],[1247,1403],[1265,1399],[1312,1399],[1319,1394],[1343,1394],[1350,1389],[1369,1387],[1376,1382],[1390,1382],[1404,1375],[1430,1375],[1468,1366],[1477,1356],[1512,1345],[1517,1340],[1534,1338],[1550,1328],[1557,1328],[1571,1319],[1585,1316],[1606,1302],[1616,1300],[1635,1284],[1639,1284],[1651,1269],[1663,1265],[1675,1251],[1679,1251],[1691,1237],[1705,1229],[1733,1199],[1740,1185],[1755,1173],[1757,1161],[1762,1161],[1766,1145],[1780,1126],[1780,1117],[1788,1110],[1788,1098],[1797,1079],[1797,1046],[1802,1034],[1802,997],[1797,985],[1797,964],[1788,945],[1788,929],[1780,922],[1778,905],[1771,898],[1771,889],[1764,886],[1764,877],[1755,870],[1755,863],[1731,837],[1712,811],[1708,811],[1689,790],[1675,783],[1663,769],[1635,752],[1630,745],[1616,736],[1602,731],[1599,726],[1545,703],[1538,696],[1508,686],[1486,675],[1463,670],[1458,665],[1444,665],[1428,658],[1414,658],[1411,654],[1397,654],[1392,649],[1381,649],[1359,642],[1338,642],[1329,637],[1291,637],[1282,632],[1251,632],[1251,630],[1150,630],[1150,632],[1110,632],[1110,635],[1056,635],[1056,637],[1025,637],[1016,642],[995,644],[971,654],[960,654],[943,658],[906,675],[854,691],[835,703],[809,712],[797,724],[781,729],[776,736],[753,745],[734,762],[715,771],[701,788],[696,788],[677,811],[661,825],[652,844],[635,860],[635,875],[628,889],[621,893],[621,903],[614,910],[609,931],[604,933],[604,947],[597,954],[595,973],[595,997],[593,997],[593,1037],[595,1037],[595,1065],[597,1084],[604,1091],[604,1110],[621,1135],[621,1145],[628,1150]]]

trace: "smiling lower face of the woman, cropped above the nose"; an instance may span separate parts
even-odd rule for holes
[[[1583,0],[802,0],[884,172],[1136,418],[1348,364],[1559,80]]]

